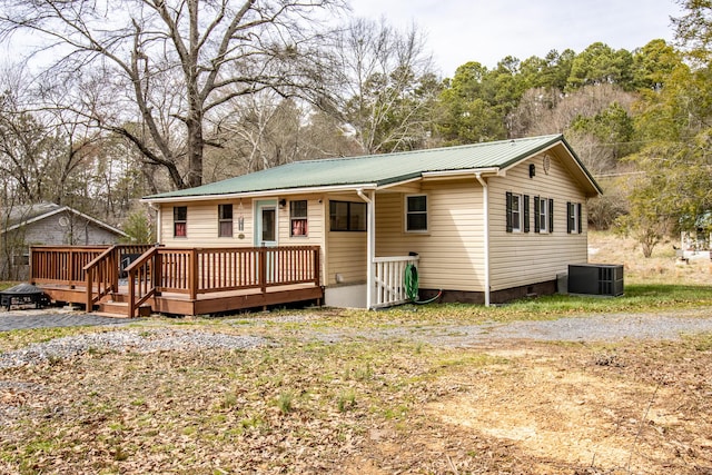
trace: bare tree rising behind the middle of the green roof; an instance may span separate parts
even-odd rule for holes
[[[337,42],[338,112],[362,151],[388,152],[427,145],[439,91],[425,38],[385,20],[356,19]]]

